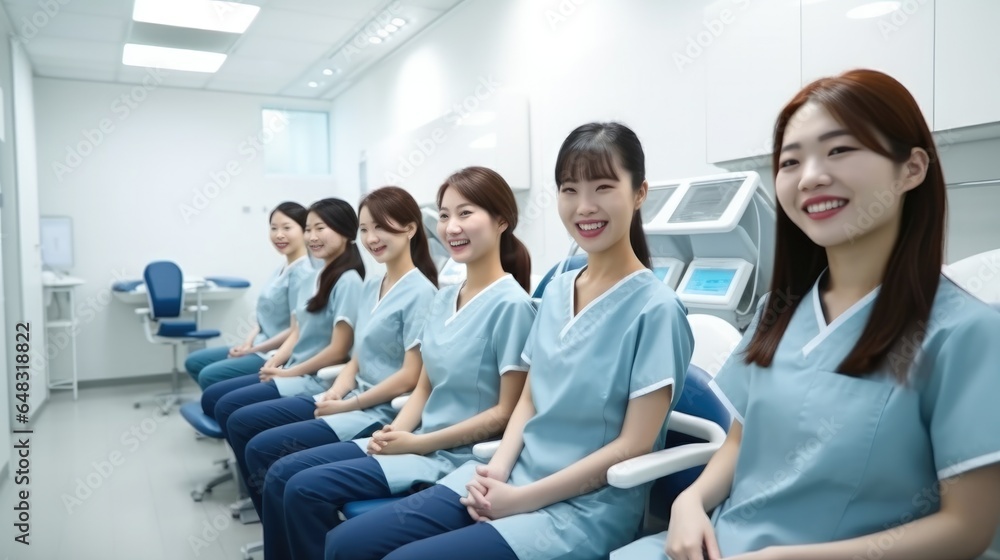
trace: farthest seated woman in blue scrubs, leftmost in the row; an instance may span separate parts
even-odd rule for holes
[[[203,348],[184,361],[184,368],[203,390],[219,381],[259,372],[265,362],[264,354],[288,338],[292,311],[312,290],[313,267],[306,255],[303,235],[307,214],[295,202],[282,202],[271,211],[271,244],[287,262],[261,288],[257,325],[243,344]]]

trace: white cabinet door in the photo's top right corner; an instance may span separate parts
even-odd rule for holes
[[[934,130],[1000,121],[1000,2],[937,3]]]

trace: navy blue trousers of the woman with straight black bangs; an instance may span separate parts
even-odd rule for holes
[[[435,485],[355,517],[326,535],[326,560],[517,560],[489,523],[476,523]]]

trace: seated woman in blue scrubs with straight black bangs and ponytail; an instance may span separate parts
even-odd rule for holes
[[[646,489],[610,487],[606,473],[663,446],[691,330],[649,268],[635,134],[577,128],[555,179],[560,218],[588,264],[546,288],[523,352],[528,380],[496,454],[341,524],[326,558],[587,560],[635,535]]]

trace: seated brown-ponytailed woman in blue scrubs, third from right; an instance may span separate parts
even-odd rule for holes
[[[437,482],[473,459],[473,444],[503,433],[517,404],[535,308],[528,250],[513,232],[514,193],[496,172],[470,167],[444,182],[437,203],[438,236],[468,279],[441,290],[431,306],[417,388],[371,439],[301,451],[270,468],[262,518],[268,558],[322,557],[344,504]],[[253,449],[251,442],[251,462]]]

